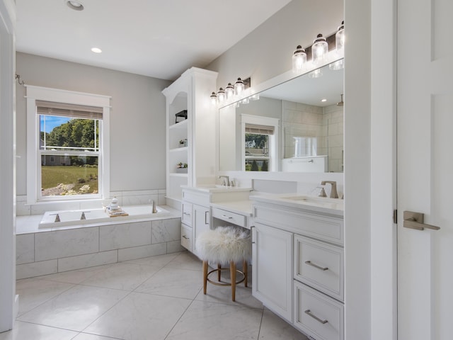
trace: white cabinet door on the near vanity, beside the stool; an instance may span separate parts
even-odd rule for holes
[[[252,294],[292,322],[292,233],[260,223],[252,229]]]

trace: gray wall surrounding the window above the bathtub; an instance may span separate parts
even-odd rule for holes
[[[111,96],[110,191],[164,189],[165,97],[171,81],[16,54],[25,84]],[[25,87],[17,85],[17,194],[26,194]]]

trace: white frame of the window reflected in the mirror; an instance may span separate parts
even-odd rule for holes
[[[241,158],[242,171],[246,171],[246,124],[267,125],[274,127],[274,134],[269,135],[269,171],[278,171],[278,130],[280,119],[262,117],[259,115],[241,115]]]

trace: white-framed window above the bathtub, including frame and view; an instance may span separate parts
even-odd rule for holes
[[[109,196],[108,103],[27,86],[28,135],[35,136],[27,145],[28,203]]]

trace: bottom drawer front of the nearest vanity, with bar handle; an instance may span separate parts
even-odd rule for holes
[[[316,340],[343,340],[341,302],[294,281],[294,326]]]

